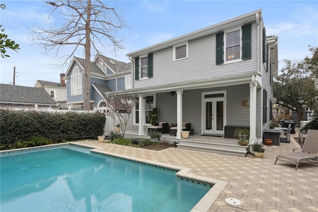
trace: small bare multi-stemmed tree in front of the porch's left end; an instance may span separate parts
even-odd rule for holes
[[[124,90],[110,92],[104,99],[106,106],[110,108],[109,116],[122,126],[123,136],[130,121],[132,108],[136,105],[136,98],[138,94],[135,91]]]

